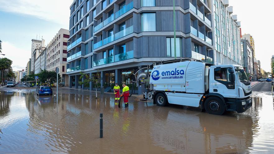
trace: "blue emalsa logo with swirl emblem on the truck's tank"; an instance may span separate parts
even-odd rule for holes
[[[163,71],[161,72],[162,75],[162,79],[182,79],[185,72],[184,70],[177,70],[177,68],[175,68],[175,70],[172,71]],[[159,80],[160,78],[160,72],[158,70],[155,70],[151,73],[151,77],[153,80]]]

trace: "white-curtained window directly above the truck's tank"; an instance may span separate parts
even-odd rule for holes
[[[181,57],[180,40],[180,38],[176,38],[176,57]],[[174,57],[174,38],[167,38],[167,57]]]

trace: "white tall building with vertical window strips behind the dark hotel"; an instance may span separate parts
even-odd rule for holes
[[[200,2],[200,0],[197,0]],[[240,26],[228,0],[211,0],[215,64],[241,65]]]

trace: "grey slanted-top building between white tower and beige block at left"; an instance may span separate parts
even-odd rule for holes
[[[46,70],[46,54],[47,47],[41,52],[41,54],[35,59],[34,62],[34,73],[38,74],[42,70]]]

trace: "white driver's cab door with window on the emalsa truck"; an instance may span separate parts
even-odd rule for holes
[[[214,79],[210,88],[210,92],[219,93],[227,98],[236,98],[237,91],[235,90],[235,82],[229,81],[228,67],[214,68]]]

